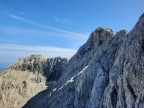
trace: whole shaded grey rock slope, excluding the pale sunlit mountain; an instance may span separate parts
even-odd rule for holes
[[[40,96],[24,108],[143,108],[144,14],[129,33],[96,29]]]

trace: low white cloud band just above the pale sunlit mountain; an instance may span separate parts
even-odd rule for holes
[[[21,57],[32,54],[41,54],[46,57],[71,58],[76,53],[74,49],[48,47],[48,46],[26,46],[17,44],[0,44],[0,63],[13,64]]]

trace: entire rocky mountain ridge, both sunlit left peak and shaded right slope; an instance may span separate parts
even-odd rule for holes
[[[0,80],[1,107],[144,108],[144,14],[130,32],[97,28],[69,61],[32,55]]]

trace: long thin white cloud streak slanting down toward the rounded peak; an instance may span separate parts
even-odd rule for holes
[[[47,26],[47,25],[37,24],[37,23],[34,23],[32,21],[29,21],[29,20],[27,20],[25,18],[16,16],[16,15],[11,14],[11,13],[7,13],[7,15],[10,16],[13,19],[20,20],[20,21],[23,21],[25,23],[32,24],[32,25],[35,25],[35,26],[38,26],[38,27],[47,28],[47,29],[58,31],[58,32],[68,33],[68,34],[71,34],[71,35],[77,35],[77,36],[82,36],[83,35],[83,34],[80,34],[80,33],[66,31],[66,30],[58,29],[58,28],[55,28],[55,27]]]

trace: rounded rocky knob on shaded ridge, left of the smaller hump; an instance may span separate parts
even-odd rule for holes
[[[109,28],[99,27],[94,32],[91,33],[88,41],[80,47],[75,56],[79,57],[89,52],[92,49],[105,44],[109,39],[114,36],[113,31]]]

